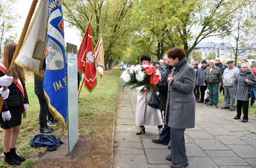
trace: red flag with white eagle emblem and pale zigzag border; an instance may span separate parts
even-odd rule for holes
[[[85,88],[91,93],[97,85],[91,25],[78,55],[77,68],[85,73]]]

